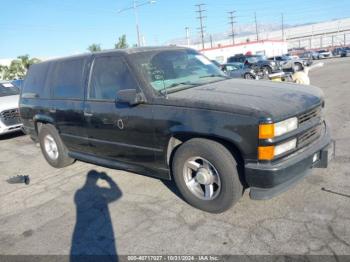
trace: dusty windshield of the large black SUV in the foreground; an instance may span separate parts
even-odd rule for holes
[[[160,50],[130,55],[146,81],[159,93],[221,81],[228,77],[194,50]]]

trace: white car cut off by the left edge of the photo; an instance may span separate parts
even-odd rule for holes
[[[10,82],[0,81],[0,135],[19,131],[19,89]]]

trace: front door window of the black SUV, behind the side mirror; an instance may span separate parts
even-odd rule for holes
[[[121,57],[98,57],[90,81],[90,99],[114,100],[122,89],[137,87],[127,64]]]

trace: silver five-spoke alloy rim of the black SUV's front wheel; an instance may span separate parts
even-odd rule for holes
[[[221,191],[219,172],[205,158],[189,158],[185,162],[183,176],[190,192],[202,200],[213,200]]]

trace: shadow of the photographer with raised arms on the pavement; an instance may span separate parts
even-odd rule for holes
[[[107,182],[109,188],[97,185]],[[118,200],[122,192],[104,172],[89,171],[84,186],[79,189],[74,202],[77,221],[72,237],[70,261],[117,261],[116,240],[108,204]]]

